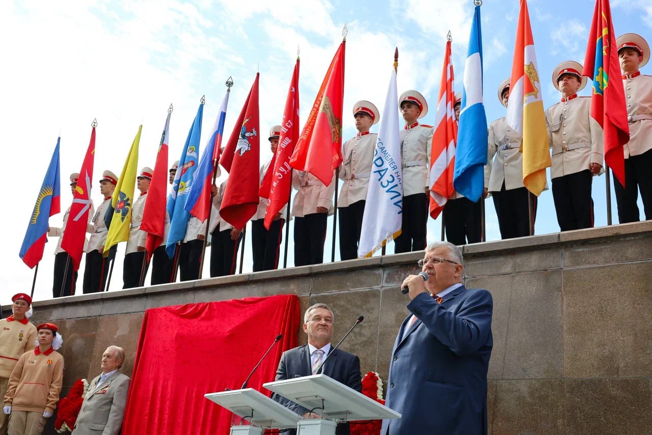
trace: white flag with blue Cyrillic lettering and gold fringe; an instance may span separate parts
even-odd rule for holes
[[[396,70],[392,68],[364,207],[358,257],[371,257],[401,233],[403,174],[398,138]]]

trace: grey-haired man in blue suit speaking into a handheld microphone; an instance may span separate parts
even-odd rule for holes
[[[464,259],[435,242],[410,275],[408,310],[392,351],[385,404],[402,413],[381,434],[487,433],[487,370],[493,346],[491,294],[462,285]]]

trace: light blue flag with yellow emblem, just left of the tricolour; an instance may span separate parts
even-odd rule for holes
[[[203,102],[200,104],[197,115],[190,126],[186,144],[183,146],[183,150],[181,150],[181,157],[179,157],[179,168],[177,169],[177,174],[174,176],[170,195],[168,195],[166,210],[168,210],[168,215],[170,216],[170,231],[168,231],[166,252],[170,258],[174,256],[175,244],[181,242],[186,236],[186,227],[188,226],[190,215],[184,209],[184,206],[186,205],[186,201],[188,201],[188,193],[192,189],[192,175],[197,169],[197,162],[199,160],[202,115]]]

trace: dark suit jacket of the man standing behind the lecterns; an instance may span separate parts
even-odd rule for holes
[[[331,347],[329,355],[329,359],[325,362],[321,373],[343,383],[359,393],[362,393],[363,383],[362,376],[360,375],[360,359],[357,355],[353,355],[353,353],[348,353],[340,349],[333,350],[333,347]],[[278,362],[278,370],[276,370],[277,381],[310,375],[312,375],[312,368],[310,364],[310,350],[308,350],[307,344],[306,346],[289,349],[281,355],[281,361]],[[276,393],[274,393],[272,398],[299,415],[303,415],[310,411],[283,396],[277,395]],[[285,433],[288,435],[294,435],[296,430],[288,430]],[[336,435],[349,435],[350,431],[348,423],[337,425],[335,433]]]

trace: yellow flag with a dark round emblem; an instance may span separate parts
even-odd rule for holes
[[[111,226],[104,243],[104,257],[108,257],[111,246],[129,240],[131,209],[134,206],[134,187],[136,186],[136,173],[138,172],[138,144],[140,144],[142,129],[143,126],[140,125],[126,156],[125,166],[120,174],[118,184],[113,191],[113,198],[111,198],[113,217],[111,217]]]

